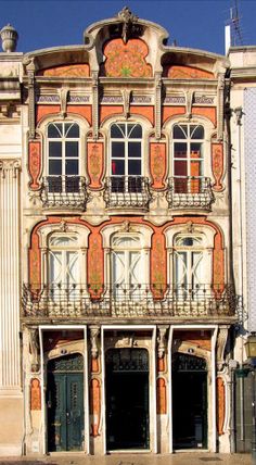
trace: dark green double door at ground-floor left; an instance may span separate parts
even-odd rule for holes
[[[67,355],[48,366],[48,450],[84,448],[84,361]]]

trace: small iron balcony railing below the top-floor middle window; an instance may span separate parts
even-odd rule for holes
[[[149,179],[142,176],[111,176],[105,179],[104,200],[107,208],[149,209]]]

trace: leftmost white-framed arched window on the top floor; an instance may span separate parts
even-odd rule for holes
[[[79,189],[79,137],[77,123],[51,123],[47,128],[47,178],[50,192]]]

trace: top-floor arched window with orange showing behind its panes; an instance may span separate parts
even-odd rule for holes
[[[197,193],[204,176],[204,127],[176,124],[172,128],[175,192]]]

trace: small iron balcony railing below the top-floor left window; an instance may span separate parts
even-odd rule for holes
[[[86,179],[82,176],[44,176],[42,178],[43,206],[85,210],[88,197]]]

